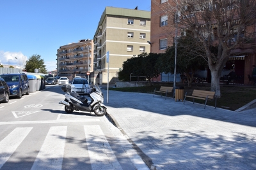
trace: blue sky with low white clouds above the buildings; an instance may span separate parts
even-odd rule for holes
[[[56,69],[57,49],[93,39],[106,6],[150,11],[150,0],[0,0],[0,63],[21,66],[41,55]],[[16,59],[17,58],[17,59]]]

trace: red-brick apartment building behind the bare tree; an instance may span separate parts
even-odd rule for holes
[[[236,1],[236,0],[234,0]],[[181,2],[181,1],[180,1]],[[207,6],[207,1],[205,1],[205,6]],[[166,7],[169,6],[169,7]],[[150,42],[152,44],[150,52],[152,53],[163,53],[165,52],[167,46],[175,45],[175,36],[176,36],[176,24],[174,22],[174,13],[168,12],[168,8],[170,6],[177,6],[177,4],[172,0],[151,0],[151,32],[150,32]],[[188,8],[188,6],[184,6]],[[206,8],[206,7],[205,7]],[[234,8],[234,6],[227,6],[227,11]],[[196,13],[190,13],[188,18],[195,17]],[[182,19],[182,18],[181,18]],[[237,20],[232,20],[232,24],[236,24]],[[204,26],[202,24],[201,26]],[[255,29],[256,25],[252,25],[253,29]],[[214,27],[214,25],[212,25]],[[182,29],[178,27],[177,29],[177,37],[180,38],[182,36],[186,36],[186,32],[189,28]],[[252,29],[252,28],[251,28]],[[213,29],[211,32],[212,39],[214,41],[214,34],[216,34],[216,29]],[[235,31],[234,31],[235,32]],[[244,32],[242,32],[241,36],[246,37],[246,33],[252,32],[250,27],[246,27]],[[254,30],[255,32],[255,30]],[[234,33],[234,37],[228,39],[230,43],[234,43],[237,39],[236,34]],[[246,39],[246,38],[244,38]],[[256,65],[256,53],[255,53],[255,43],[256,39],[252,39],[250,41],[246,41],[244,44],[239,45],[236,49],[230,50],[230,57],[226,63],[227,67],[233,67],[235,72],[239,77],[243,80],[240,83],[248,83],[248,74],[252,74],[252,65]],[[215,43],[215,42],[213,42]],[[225,66],[225,67],[226,67]],[[207,80],[211,81],[211,71],[207,69],[204,75],[206,75]],[[159,78],[161,80],[161,78]]]

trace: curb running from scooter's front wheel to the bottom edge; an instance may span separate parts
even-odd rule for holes
[[[113,115],[109,114],[108,112],[106,113],[106,117],[109,118],[109,120],[111,120],[111,122],[113,123],[113,125],[115,125],[121,132],[122,134],[124,134],[124,136],[126,137],[127,141],[129,141],[129,143],[132,144],[132,148],[134,148],[134,150],[136,150],[136,152],[138,153],[138,155],[140,155],[141,159],[145,162],[145,164],[148,166],[148,168],[150,170],[160,170],[161,168],[157,167],[156,165],[154,165],[154,163],[152,162],[152,159],[150,159],[150,157],[148,157],[137,145],[136,143],[134,143],[134,141],[132,141],[132,139],[129,138],[129,136],[125,133],[125,131],[122,129],[122,127],[120,127],[120,125],[118,124],[118,122],[116,121],[115,117],[113,117]]]

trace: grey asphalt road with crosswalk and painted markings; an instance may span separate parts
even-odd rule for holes
[[[61,85],[0,104],[1,169],[148,169],[106,117],[67,114]]]

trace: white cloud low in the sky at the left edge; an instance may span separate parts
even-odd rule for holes
[[[14,66],[23,67],[26,65],[26,60],[28,57],[22,52],[3,52],[0,51],[0,63],[1,64],[10,64]]]

